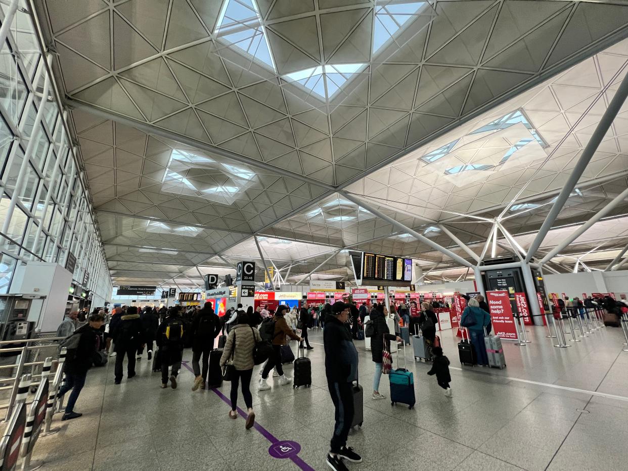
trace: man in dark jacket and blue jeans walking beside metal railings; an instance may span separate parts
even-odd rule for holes
[[[99,330],[105,318],[96,313],[89,317],[89,323],[78,328],[73,335],[80,335],[78,346],[76,349],[68,350],[63,364],[63,372],[65,373],[65,382],[60,387],[58,394],[63,396],[72,389],[72,394],[68,398],[65,406],[65,413],[61,420],[70,420],[82,416],[74,412],[74,404],[78,399],[81,389],[85,385],[87,370],[92,366],[95,353],[100,349]]]

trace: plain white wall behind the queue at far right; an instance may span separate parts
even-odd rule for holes
[[[628,293],[628,271],[592,271],[591,273],[545,274],[545,288],[548,293],[565,293],[570,298],[582,297],[582,293],[615,293],[619,298]]]

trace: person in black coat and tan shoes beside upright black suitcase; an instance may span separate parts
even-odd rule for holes
[[[218,337],[219,333],[220,319],[214,312],[211,301],[207,301],[192,319],[192,369],[195,376],[192,391],[196,391],[199,387],[205,389],[209,354],[214,350],[214,339]],[[203,357],[202,371],[198,364],[201,356]]]

